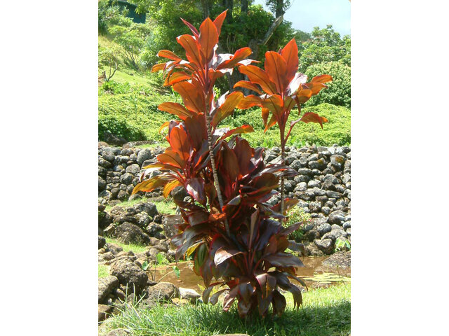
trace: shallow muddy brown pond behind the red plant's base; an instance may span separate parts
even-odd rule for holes
[[[343,281],[351,281],[351,267],[332,267],[323,265],[323,261],[328,256],[323,257],[302,257],[300,258],[304,263],[304,267],[297,269],[297,275],[304,279],[309,288],[332,286]],[[180,277],[177,278],[175,272],[173,272],[172,263],[167,266],[157,267],[155,281],[167,281],[174,283],[176,286],[184,288],[192,288],[194,290],[203,290],[203,279],[201,276],[197,276],[192,267],[193,262],[178,262],[177,267],[180,269]],[[148,271],[147,271],[148,272]],[[149,273],[149,279],[152,279],[154,269],[151,269]],[[299,284],[294,279],[291,279],[293,283]],[[200,285],[202,288],[200,288]]]

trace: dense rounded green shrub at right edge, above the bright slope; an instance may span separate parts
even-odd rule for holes
[[[311,97],[306,106],[329,103],[351,109],[351,68],[349,66],[342,62],[320,63],[309,66],[305,73],[309,78],[319,73],[329,73],[333,78],[332,83],[328,84],[328,89],[318,96]]]

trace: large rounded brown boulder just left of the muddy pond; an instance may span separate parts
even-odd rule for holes
[[[140,293],[148,281],[147,273],[126,258],[114,261],[109,273],[116,276],[121,285],[128,286],[131,293]]]

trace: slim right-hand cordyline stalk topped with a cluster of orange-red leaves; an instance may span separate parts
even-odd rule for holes
[[[281,164],[285,162],[286,144],[290,132],[296,123],[319,123],[323,128],[323,123],[328,120],[316,113],[307,112],[295,121],[290,123],[290,128],[286,133],[288,116],[293,107],[297,106],[298,114],[301,115],[301,104],[307,102],[311,96],[318,94],[321,89],[327,87],[324,83],[332,80],[329,75],[315,76],[307,83],[307,76],[304,73],[298,73],[298,54],[295,38],[290,40],[287,45],[279,50],[267,51],[265,53],[265,70],[250,64],[242,64],[239,71],[246,74],[249,80],[241,80],[234,87],[245,87],[260,94],[250,94],[238,104],[239,109],[249,109],[252,106],[262,107],[262,119],[264,120],[265,130],[279,125],[281,139]],[[264,92],[264,93],[263,93]],[[262,94],[263,93],[263,94]],[[268,117],[272,113],[272,117]],[[281,176],[281,213],[284,214],[287,207],[292,204],[291,201],[284,204],[284,179]]]

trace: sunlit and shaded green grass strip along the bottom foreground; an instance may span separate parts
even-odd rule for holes
[[[247,333],[251,336],[342,336],[351,332],[351,284],[320,288],[303,293],[304,304],[293,309],[293,299],[286,294],[288,307],[281,317],[241,320],[236,304],[223,312],[220,304],[180,307],[128,307],[108,318],[102,332],[116,328],[130,335],[210,336],[222,333]]]

